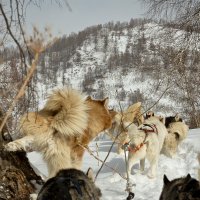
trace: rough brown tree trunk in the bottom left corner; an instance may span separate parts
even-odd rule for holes
[[[3,135],[3,143],[12,141]],[[32,169],[26,152],[7,152],[0,144],[0,200],[29,200],[36,192],[34,183],[42,184],[42,178]]]

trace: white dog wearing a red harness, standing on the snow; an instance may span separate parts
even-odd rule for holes
[[[127,127],[130,137],[130,150],[128,152],[128,173],[136,162],[141,161],[140,169],[144,170],[145,159],[150,163],[148,172],[149,178],[156,176],[158,159],[162,149],[167,129],[159,117],[151,116],[144,121],[144,124],[136,127],[131,124]],[[142,144],[142,146],[140,146]],[[137,147],[140,148],[137,149]],[[132,151],[132,149],[137,149]]]

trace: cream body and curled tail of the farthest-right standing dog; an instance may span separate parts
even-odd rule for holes
[[[165,138],[162,153],[174,157],[179,144],[187,137],[189,127],[184,122],[172,122],[167,130],[168,134]]]

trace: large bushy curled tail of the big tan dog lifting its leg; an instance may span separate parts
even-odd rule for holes
[[[89,107],[85,96],[71,88],[55,90],[40,113],[51,118],[51,128],[67,136],[80,135],[88,126]]]

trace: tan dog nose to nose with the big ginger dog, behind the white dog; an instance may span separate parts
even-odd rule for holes
[[[127,130],[123,124],[137,123],[140,125],[144,121],[141,113],[141,102],[129,106],[122,113],[110,110],[110,114],[112,115],[112,128],[107,130],[106,134],[117,143],[117,153],[121,154],[123,152],[122,145],[129,141]]]

